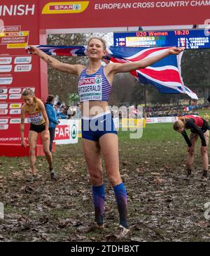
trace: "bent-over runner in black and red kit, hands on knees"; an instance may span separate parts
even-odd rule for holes
[[[186,129],[190,129],[190,139],[188,138]],[[186,140],[186,143],[188,143],[188,178],[191,175],[193,162],[195,160],[195,144],[197,142],[198,136],[200,136],[202,141],[201,155],[204,168],[202,179],[207,179],[207,171],[209,166],[209,158],[207,152],[209,144],[209,129],[210,127],[207,120],[204,120],[198,115],[185,115],[183,117],[179,117],[179,120],[174,122],[174,130],[176,132],[180,132]]]

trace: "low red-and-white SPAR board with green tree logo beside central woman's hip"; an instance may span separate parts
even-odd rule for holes
[[[55,129],[56,144],[78,143],[78,120],[59,120]]]

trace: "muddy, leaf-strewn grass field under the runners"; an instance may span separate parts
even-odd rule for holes
[[[141,139],[130,139],[130,132],[118,137],[131,227],[123,241],[210,241],[210,222],[204,217],[210,186],[200,181],[200,141],[193,177],[187,181],[186,143],[172,124],[147,124]],[[77,231],[94,215],[81,141],[57,146],[54,162],[57,181],[50,181],[39,157],[41,177],[31,182],[28,158],[0,158],[0,202],[5,207],[0,241],[113,241],[118,211],[106,175],[106,228]]]

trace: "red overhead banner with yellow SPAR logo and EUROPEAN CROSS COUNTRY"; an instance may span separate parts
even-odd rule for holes
[[[210,1],[42,0],[40,7],[42,29],[139,27],[204,24]]]

